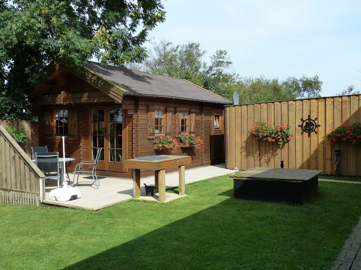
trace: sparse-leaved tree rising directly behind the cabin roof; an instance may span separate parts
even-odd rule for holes
[[[234,82],[236,77],[235,73],[226,72],[232,67],[232,62],[227,51],[218,50],[210,57],[208,66],[203,62],[206,53],[197,42],[174,46],[172,42],[162,40],[150,50],[142,70],[185,79],[214,93],[223,94],[222,89]]]

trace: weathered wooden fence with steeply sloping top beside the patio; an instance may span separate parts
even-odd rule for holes
[[[0,203],[39,206],[45,198],[44,174],[0,126]]]

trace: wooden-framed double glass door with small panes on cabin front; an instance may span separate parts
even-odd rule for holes
[[[99,169],[117,171],[123,164],[123,113],[121,108],[96,108],[91,110],[91,157],[95,160],[103,148]],[[103,162],[101,162],[103,161]]]

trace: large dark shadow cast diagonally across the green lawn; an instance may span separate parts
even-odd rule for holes
[[[293,207],[234,199],[232,193],[64,269],[328,269],[349,233],[347,206],[332,212],[341,201],[327,202],[325,194]]]

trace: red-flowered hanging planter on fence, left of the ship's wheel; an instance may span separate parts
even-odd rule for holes
[[[284,143],[290,140],[290,137],[293,137],[290,128],[290,125],[268,126],[268,121],[258,121],[253,124],[251,134],[252,138],[255,137],[256,141],[277,142],[282,147]]]

